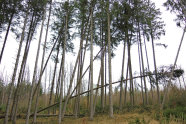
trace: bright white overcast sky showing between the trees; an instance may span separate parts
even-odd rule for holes
[[[163,46],[157,46],[155,45],[155,52],[156,52],[156,62],[157,62],[157,67],[160,67],[162,65],[170,65],[174,63],[175,57],[176,57],[176,53],[178,50],[178,46],[181,40],[181,36],[183,34],[183,29],[178,28],[176,26],[176,22],[173,21],[176,16],[174,14],[171,14],[169,11],[166,11],[166,8],[162,6],[163,2],[165,2],[165,0],[153,0],[157,6],[157,8],[160,8],[161,12],[162,12],[162,19],[165,22],[166,26],[165,26],[165,31],[166,34],[165,36],[162,36],[160,40],[156,40],[155,43],[162,43],[162,44],[166,44],[168,45],[167,48],[164,48]],[[40,27],[39,27],[40,29]],[[39,33],[38,33],[39,34]],[[43,33],[44,35],[45,33]],[[4,35],[2,35],[4,36]],[[15,59],[16,59],[16,54],[17,54],[17,49],[18,49],[18,45],[19,43],[16,42],[13,39],[14,35],[10,33],[10,36],[8,37],[8,41],[7,41],[7,45],[4,51],[4,55],[3,55],[3,59],[2,59],[2,64],[0,65],[0,74],[2,75],[6,75],[7,74],[7,78],[10,79],[12,76],[12,72],[13,72],[13,68],[14,68],[14,63],[15,63]],[[39,39],[39,35],[36,36],[36,39]],[[43,40],[44,41],[44,37]],[[184,38],[182,47],[181,47],[181,51],[179,54],[179,58],[177,61],[177,65],[181,66],[184,70],[186,70],[186,62],[185,62],[185,53],[186,53],[186,38]],[[29,68],[31,70],[31,75],[33,73],[33,68],[34,68],[34,63],[35,63],[35,55],[36,55],[36,51],[37,51],[37,44],[38,44],[38,40],[34,40],[31,43],[31,48],[29,51],[29,58],[27,61],[27,64],[29,65]],[[2,41],[0,42],[0,48],[2,48]],[[23,47],[24,48],[24,47]],[[77,50],[79,48],[79,39],[77,38],[75,40],[75,50],[74,52],[77,53]],[[143,46],[144,48],[144,46]],[[151,42],[147,43],[147,49],[149,51],[149,63],[150,63],[150,70],[153,70],[153,56],[152,56],[152,47],[151,47]],[[120,44],[117,48],[117,50],[115,51],[116,56],[112,59],[112,80],[114,81],[118,81],[121,77],[121,65],[122,65],[122,54],[123,54],[123,44]],[[144,49],[143,49],[144,50]],[[23,50],[22,50],[23,51]],[[96,53],[99,51],[98,47],[94,47],[94,56],[96,55]],[[145,53],[145,51],[143,51]],[[42,52],[40,52],[42,53]],[[23,54],[23,53],[22,53]],[[87,52],[87,60],[89,60],[89,52]],[[138,63],[138,54],[137,54],[137,45],[133,45],[131,48],[131,56],[132,56],[132,66],[133,66],[133,72],[138,71],[139,72],[139,63]],[[75,58],[76,58],[77,54],[67,54],[67,58],[66,58],[66,64],[69,68],[70,63],[74,64]],[[144,54],[145,56],[145,54]],[[41,54],[40,54],[40,58],[41,58]],[[20,63],[21,64],[21,60],[22,58],[20,58]],[[145,61],[145,66],[147,66],[146,64],[146,60]],[[89,61],[85,62],[85,67],[84,69],[86,69],[86,67],[88,66]],[[40,65],[40,63],[39,63]],[[52,64],[52,62],[50,61],[49,65],[52,65],[52,67],[54,67],[54,65]],[[125,64],[126,65],[126,64]],[[59,64],[58,64],[58,69],[59,69]],[[98,73],[99,73],[99,69],[100,69],[100,61],[96,61],[94,62],[94,84],[97,82],[97,78],[98,78]],[[126,67],[125,67],[126,69]],[[48,67],[49,70],[49,67]],[[88,75],[85,75],[86,77],[88,77]],[[32,77],[32,76],[31,76]]]

